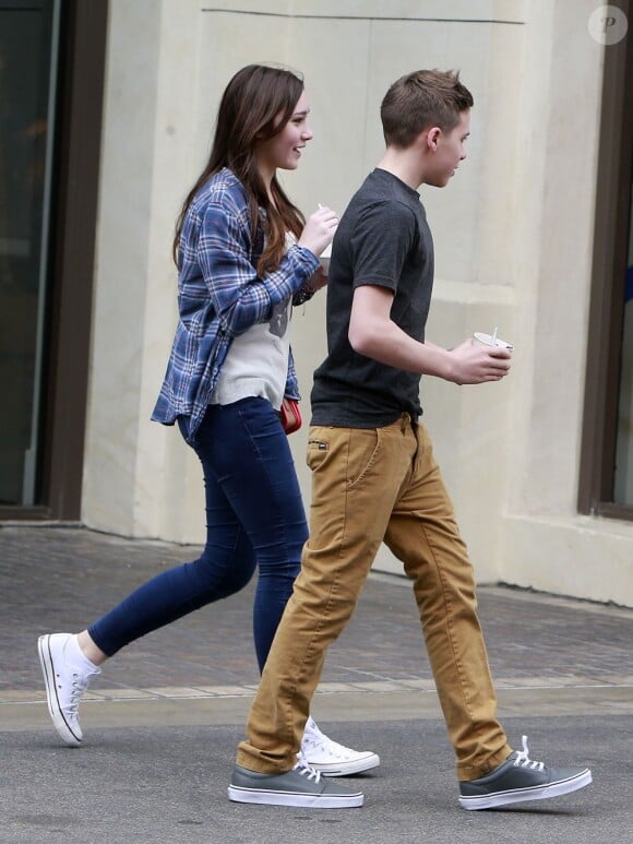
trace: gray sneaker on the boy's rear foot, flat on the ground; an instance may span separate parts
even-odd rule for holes
[[[321,778],[321,773],[299,760],[284,774],[261,774],[236,765],[228,797],[236,803],[301,806],[309,809],[347,809],[362,806],[362,792]]]

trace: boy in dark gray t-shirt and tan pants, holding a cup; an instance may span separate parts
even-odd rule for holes
[[[499,381],[510,353],[428,343],[433,242],[417,193],[446,186],[466,157],[473,97],[452,72],[417,71],[381,107],[386,151],[334,238],[327,357],[314,373],[308,463],[310,538],[251,709],[230,799],[361,806],[297,753],[327,646],[349,620],[382,542],[413,581],[449,736],[459,803],[487,809],[566,794],[587,769],[554,769],[509,747],[476,611],[475,581],[420,424],[419,381]]]

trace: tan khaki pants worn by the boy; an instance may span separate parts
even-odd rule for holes
[[[379,429],[312,427],[310,538],[268,654],[237,762],[292,768],[327,646],[350,618],[381,542],[403,561],[419,608],[457,776],[512,752],[477,618],[475,581],[429,436],[404,414]]]

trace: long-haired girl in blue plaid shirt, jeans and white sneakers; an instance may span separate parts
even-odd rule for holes
[[[295,465],[282,424],[299,393],[289,326],[292,305],[326,283],[319,255],[337,217],[307,221],[277,180],[312,138],[296,73],[261,64],[224,92],[210,159],[176,226],[179,321],[152,418],[178,425],[202,465],[206,544],[202,556],[158,574],[79,634],[40,637],[53,725],[79,745],[79,704],[100,665],[130,642],[243,589],[258,570],[255,653],[263,669],[308,538]],[[217,632],[210,643],[222,640]],[[379,764],[309,720],[300,757],[323,774]]]

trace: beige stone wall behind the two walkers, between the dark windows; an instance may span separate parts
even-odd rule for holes
[[[594,5],[110,0],[86,524],[204,536],[196,459],[148,417],[176,323],[174,219],[230,75],[253,61],[304,73],[314,140],[285,185],[309,213],[343,211],[378,161],[393,80],[458,68],[476,100],[469,158],[445,190],[422,189],[437,252],[428,337],[453,345],[498,325],[516,354],[502,384],[423,379],[426,421],[481,581],[633,605],[633,526],[575,514],[602,62],[586,27]],[[295,313],[307,416],[323,306]],[[306,431],[291,441],[308,502]],[[377,566],[399,570],[386,551]]]

